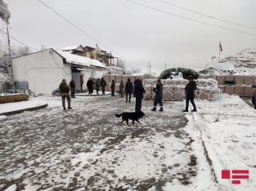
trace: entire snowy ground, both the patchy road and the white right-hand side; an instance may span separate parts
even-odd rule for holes
[[[134,110],[118,96],[38,97],[46,109],[0,118],[0,189],[10,190],[256,190],[256,110],[238,96],[142,102],[142,125],[119,125]],[[248,169],[231,184],[222,169]]]

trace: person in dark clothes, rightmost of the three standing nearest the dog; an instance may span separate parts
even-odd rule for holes
[[[193,105],[193,110],[191,110],[191,112],[196,112],[196,107],[195,107],[195,102],[194,102],[194,98],[195,98],[195,90],[196,90],[196,82],[193,81],[193,77],[189,76],[188,78],[188,83],[186,84],[186,109],[183,110],[182,112],[188,112],[188,105],[189,105],[189,101],[191,101],[191,104]]]

